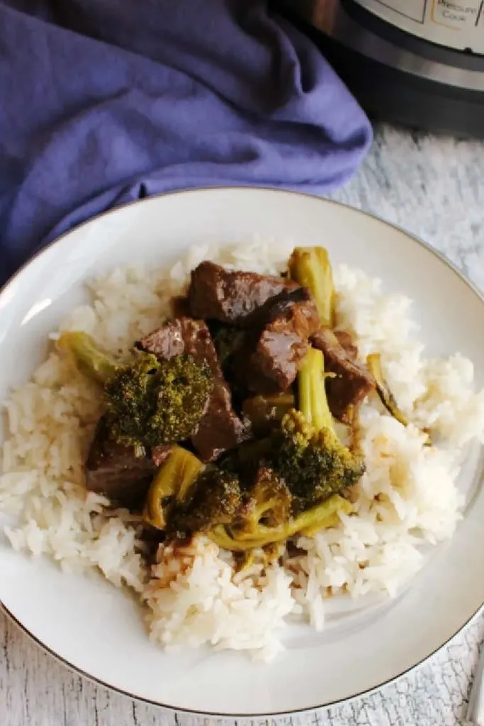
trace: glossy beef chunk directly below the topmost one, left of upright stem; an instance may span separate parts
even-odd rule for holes
[[[247,335],[237,369],[248,391],[287,391],[308,351],[308,338],[319,330],[316,304],[304,287],[284,290],[252,315],[254,333]]]

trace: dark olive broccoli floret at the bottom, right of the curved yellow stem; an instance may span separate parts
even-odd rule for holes
[[[203,532],[234,521],[242,505],[239,480],[216,467],[205,469],[197,478],[192,497],[173,512],[168,531],[176,537]]]

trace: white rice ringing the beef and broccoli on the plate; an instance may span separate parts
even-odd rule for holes
[[[89,284],[90,305],[75,309],[61,330],[86,330],[108,351],[128,348],[157,327],[189,270],[203,259],[236,269],[279,272],[291,246],[258,240],[232,248],[197,248],[171,269],[114,269]],[[153,640],[164,648],[247,650],[268,660],[282,648],[287,616],[321,629],[329,594],[395,595],[424,562],[431,544],[454,533],[464,503],[456,486],[459,457],[484,440],[484,393],[473,388],[472,363],[459,354],[426,359],[411,319],[411,301],[382,292],[382,283],[340,266],[335,271],[338,324],[356,336],[361,356],[380,352],[385,375],[411,420],[404,428],[377,399],[362,407],[367,472],[356,515],[300,538],[304,551],[284,566],[254,566],[233,576],[231,558],[199,537],[190,547],[160,547],[147,572],[136,551],[136,526],[112,515],[104,497],[83,486],[83,461],[99,416],[94,386],[54,351],[5,404],[0,509],[15,550],[47,555],[65,571],[100,571],[139,593]],[[424,446],[423,427],[438,441]],[[333,600],[334,601],[334,600]]]

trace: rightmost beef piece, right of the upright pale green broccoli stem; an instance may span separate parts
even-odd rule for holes
[[[335,418],[350,423],[352,410],[374,388],[372,375],[356,360],[358,349],[348,333],[322,328],[311,342],[324,353],[324,370],[335,373],[326,383],[329,409]]]

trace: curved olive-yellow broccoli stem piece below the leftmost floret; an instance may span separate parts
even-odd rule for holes
[[[194,454],[173,446],[165,463],[157,471],[149,487],[145,520],[157,529],[165,529],[170,503],[185,502],[194,481],[202,473],[204,466]]]

